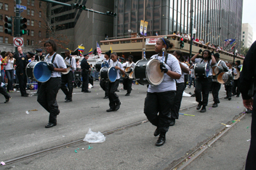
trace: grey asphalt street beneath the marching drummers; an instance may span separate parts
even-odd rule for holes
[[[60,90],[57,97],[61,111],[58,116],[58,125],[50,129],[44,128],[49,114],[37,103],[36,96],[20,97],[19,92],[12,92],[10,103],[0,103],[0,161],[83,139],[89,128],[94,132],[105,132],[145,120],[143,106],[147,87],[142,85],[133,85],[132,87],[131,96],[125,96],[126,92],[121,89],[122,84],[120,84],[118,88],[120,92],[117,94],[122,102],[121,108],[110,113],[106,112],[109,108],[109,101],[103,99],[104,92],[100,89],[98,82],[95,82],[94,88],[89,94],[81,93],[81,89],[74,89],[72,103],[64,103],[65,95]],[[186,89],[185,92],[193,92],[193,90]],[[223,90],[221,87],[220,96],[225,96]],[[28,92],[35,93],[34,90]],[[212,95],[210,94],[209,100],[211,99]],[[181,108],[195,104],[195,97],[183,97]],[[195,115],[195,117],[180,115],[177,123],[170,127],[167,133],[166,144],[161,147],[154,146],[157,140],[153,136],[156,127],[147,122],[109,134],[104,143],[79,143],[31,159],[1,166],[0,169],[168,169],[177,160],[186,156],[190,150],[216,134],[223,128],[222,124],[234,120],[239,113],[244,111],[241,97],[232,97],[231,101],[221,99],[218,108],[211,108],[211,105],[212,102],[209,102],[206,113],[200,113],[195,108],[183,111],[182,113]],[[26,111],[29,111],[29,114]],[[237,126],[243,122],[244,126],[250,126],[250,115],[246,115],[244,120],[238,122]],[[221,159],[220,154],[215,159],[225,160],[227,164],[234,164],[234,159],[228,157],[228,154],[236,153],[235,150],[238,147],[236,141],[239,141],[241,143],[239,150],[243,152],[240,152],[239,155],[241,159],[237,159],[235,162],[239,165],[236,166],[237,169],[240,169],[244,165],[250,144],[246,142],[246,139],[250,139],[250,128],[246,129],[246,133],[238,128],[237,130],[236,128],[230,129],[230,134],[231,132],[241,138],[231,140],[233,135],[230,135],[230,138],[227,138],[227,135],[225,136],[227,142],[223,139],[222,147],[234,145],[234,152],[221,154],[225,155],[225,159]],[[93,146],[90,150],[88,149],[89,145]],[[216,143],[217,145],[218,143]],[[78,152],[76,153],[74,150]],[[218,155],[217,153],[212,154]],[[214,162],[214,159],[211,161]],[[192,169],[198,169],[194,167]]]

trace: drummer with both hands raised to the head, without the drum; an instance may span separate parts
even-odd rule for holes
[[[202,110],[200,110],[201,113],[204,113],[206,111],[206,106],[208,104],[208,97],[209,97],[209,91],[211,89],[211,83],[212,83],[212,66],[216,63],[216,60],[214,59],[214,52],[210,52],[209,50],[204,50],[203,52],[203,59],[196,59],[198,55],[202,52],[200,49],[196,55],[194,55],[191,58],[191,61],[195,63],[206,63],[210,65],[209,70],[209,76],[207,78],[205,77],[197,77],[196,78],[196,88],[195,88],[195,94],[196,94],[196,101],[198,102],[198,106],[196,107],[196,110],[200,110],[202,107]],[[203,101],[202,101],[203,96]]]

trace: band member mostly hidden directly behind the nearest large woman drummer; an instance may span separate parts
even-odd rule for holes
[[[183,53],[180,50],[174,51],[173,55],[179,60],[179,65],[181,69],[181,76],[176,80],[176,94],[174,97],[173,106],[171,108],[171,123],[170,126],[175,125],[175,119],[179,118],[180,111],[180,103],[182,101],[182,94],[186,88],[186,82],[184,73],[189,73],[189,67],[185,62],[185,58],[183,57]]]

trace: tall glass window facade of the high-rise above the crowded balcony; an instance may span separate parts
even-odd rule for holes
[[[241,38],[243,0],[145,0],[145,13],[144,0],[115,1],[118,4],[115,36],[126,36],[128,29],[140,32],[140,20],[145,17],[147,36],[156,31],[159,35],[174,31],[189,34],[195,28],[195,37],[214,45],[222,46],[224,39]]]

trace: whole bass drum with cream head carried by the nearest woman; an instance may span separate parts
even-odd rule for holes
[[[164,79],[164,73],[160,69],[160,61],[157,59],[138,60],[133,72],[134,79],[141,85],[159,85]]]

